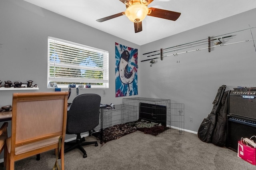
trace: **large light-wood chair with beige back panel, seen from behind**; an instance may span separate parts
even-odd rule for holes
[[[13,93],[12,134],[6,140],[6,170],[14,170],[16,160],[56,150],[60,143],[61,169],[64,170],[67,101],[67,91]]]

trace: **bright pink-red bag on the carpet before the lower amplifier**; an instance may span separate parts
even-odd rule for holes
[[[237,156],[250,164],[256,165],[256,148],[248,146],[243,138],[238,141]]]

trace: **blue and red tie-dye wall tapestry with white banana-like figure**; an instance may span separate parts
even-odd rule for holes
[[[116,97],[138,95],[138,49],[116,43]]]

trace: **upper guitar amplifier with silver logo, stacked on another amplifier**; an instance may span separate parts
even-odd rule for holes
[[[229,113],[232,115],[256,119],[256,91],[230,91]]]

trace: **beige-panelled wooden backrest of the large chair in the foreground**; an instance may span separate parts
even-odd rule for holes
[[[68,92],[13,93],[11,152],[40,140],[64,138],[67,98]]]

